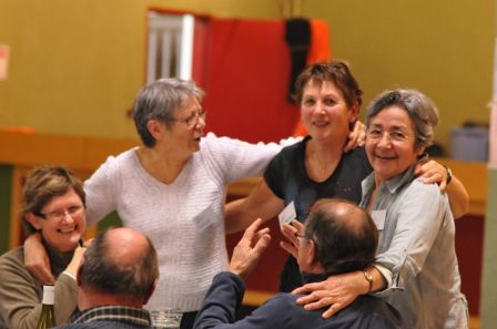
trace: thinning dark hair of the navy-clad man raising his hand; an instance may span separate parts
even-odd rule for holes
[[[345,199],[314,204],[304,227],[316,245],[316,260],[327,275],[365,268],[375,259],[378,232],[369,215]]]

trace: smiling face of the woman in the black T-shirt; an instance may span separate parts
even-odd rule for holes
[[[357,119],[358,106],[349,109],[334,83],[311,80],[304,88],[301,113],[302,123],[313,140],[344,144],[349,124]]]

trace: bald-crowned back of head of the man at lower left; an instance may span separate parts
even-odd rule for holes
[[[148,300],[159,278],[158,256],[148,237],[126,227],[100,233],[78,273],[83,290]]]

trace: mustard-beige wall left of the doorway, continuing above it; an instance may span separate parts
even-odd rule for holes
[[[223,17],[278,13],[266,0],[0,0],[0,44],[11,48],[0,127],[134,137],[125,113],[144,82],[150,6]]]

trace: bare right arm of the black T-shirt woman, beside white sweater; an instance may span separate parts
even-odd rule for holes
[[[275,196],[262,179],[251,194],[225,206],[226,234],[247,228],[255,218],[266,222],[276,216],[284,207],[284,202]]]

